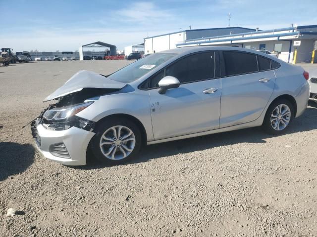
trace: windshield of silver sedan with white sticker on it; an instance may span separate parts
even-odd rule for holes
[[[108,76],[109,79],[123,83],[129,83],[141,78],[148,72],[157,68],[168,59],[177,55],[176,53],[154,53],[148,57],[141,58],[134,63],[120,69],[119,71]]]

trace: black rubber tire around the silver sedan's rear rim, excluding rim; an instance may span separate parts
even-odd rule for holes
[[[291,116],[290,116],[290,120],[289,123],[287,124],[287,126],[282,129],[282,130],[275,130],[271,124],[271,115],[273,113],[273,110],[278,106],[278,105],[287,105],[291,111]],[[278,99],[276,101],[274,101],[267,109],[265,117],[264,117],[264,121],[262,124],[262,128],[263,130],[268,133],[268,134],[272,134],[272,135],[280,135],[283,134],[285,131],[287,131],[287,129],[289,128],[290,124],[292,123],[294,119],[294,107],[293,104],[287,100],[287,99]]]

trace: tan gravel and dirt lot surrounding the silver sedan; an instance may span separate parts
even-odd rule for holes
[[[112,167],[43,158],[21,128],[41,100],[78,70],[127,63],[0,67],[1,237],[317,236],[317,103],[279,137],[252,128],[152,145]]]

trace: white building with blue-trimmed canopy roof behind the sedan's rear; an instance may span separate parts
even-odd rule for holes
[[[294,41],[297,41],[295,44],[300,45],[295,46]],[[311,62],[312,52],[317,49],[317,25],[219,35],[177,43],[177,47],[206,45],[237,46],[255,50],[266,49],[277,52],[279,59],[289,63],[293,62],[296,48],[297,63]],[[315,62],[317,62],[317,57],[315,57]]]

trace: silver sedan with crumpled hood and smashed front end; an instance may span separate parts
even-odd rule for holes
[[[79,71],[45,98],[57,103],[31,129],[46,158],[83,165],[90,148],[118,164],[143,144],[255,126],[282,134],[307,107],[307,80],[301,67],[255,50],[176,48],[108,76]]]

